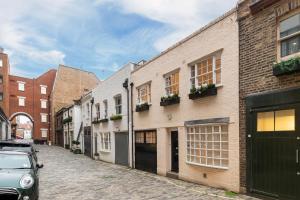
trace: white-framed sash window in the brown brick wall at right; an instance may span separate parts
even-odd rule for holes
[[[300,51],[300,14],[281,21],[279,32],[281,57],[298,53]]]

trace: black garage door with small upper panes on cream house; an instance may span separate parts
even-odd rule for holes
[[[135,132],[135,168],[157,173],[156,131]]]

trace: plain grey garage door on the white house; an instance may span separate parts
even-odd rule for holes
[[[128,133],[115,133],[115,163],[128,166]]]

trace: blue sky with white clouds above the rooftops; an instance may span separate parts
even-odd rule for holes
[[[236,6],[236,0],[0,0],[0,46],[11,74],[59,64],[105,79],[149,60]]]

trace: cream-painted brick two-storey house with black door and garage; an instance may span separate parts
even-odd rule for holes
[[[240,190],[238,42],[231,10],[132,72],[135,168]]]

